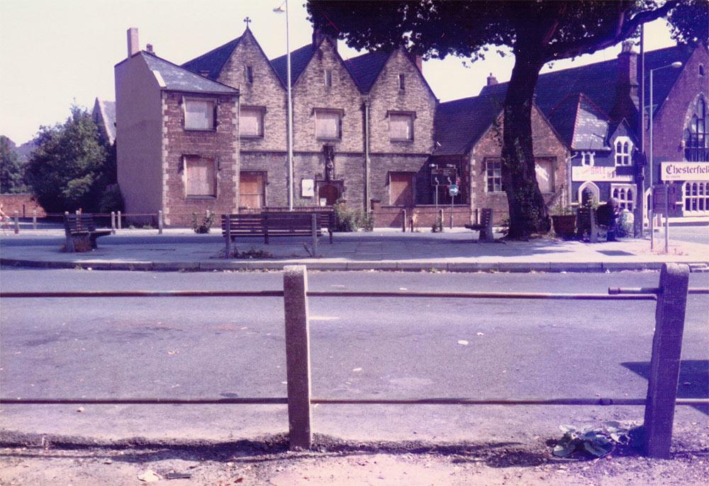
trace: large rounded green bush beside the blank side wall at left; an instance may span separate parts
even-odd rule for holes
[[[110,151],[99,140],[89,112],[73,105],[65,123],[40,127],[27,167],[28,184],[48,212],[96,212],[106,187],[116,183]]]

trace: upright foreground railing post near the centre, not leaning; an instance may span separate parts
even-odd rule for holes
[[[305,265],[284,267],[283,299],[286,315],[286,376],[291,450],[309,449],[313,442],[307,292],[308,274]]]

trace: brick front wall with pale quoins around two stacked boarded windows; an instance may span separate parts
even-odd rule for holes
[[[192,213],[207,209],[217,214],[234,213],[238,209],[238,102],[233,95],[212,95],[217,101],[215,131],[184,130],[182,97],[194,94],[163,92],[163,210],[165,222],[172,226],[189,226]],[[186,197],[184,155],[199,155],[216,162],[216,197]]]

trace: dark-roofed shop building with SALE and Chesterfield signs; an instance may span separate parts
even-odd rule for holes
[[[647,211],[650,168],[657,185],[666,178],[661,162],[675,162],[674,170],[689,170],[690,175],[669,182],[674,189],[670,216],[707,216],[709,165],[703,165],[709,162],[707,48],[678,45],[647,52],[644,58],[644,137],[640,133],[642,72],[630,44],[623,45],[615,60],[540,75],[535,103],[571,149],[571,202],[617,197],[622,206],[634,210],[644,191]],[[674,62],[681,62],[681,67],[671,67]],[[650,70],[654,71],[652,163]],[[503,96],[506,89],[506,83],[496,84],[484,87],[481,94]]]

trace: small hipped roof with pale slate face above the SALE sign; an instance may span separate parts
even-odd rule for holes
[[[609,150],[608,115],[583,93],[569,94],[549,113],[549,123],[573,150]]]

